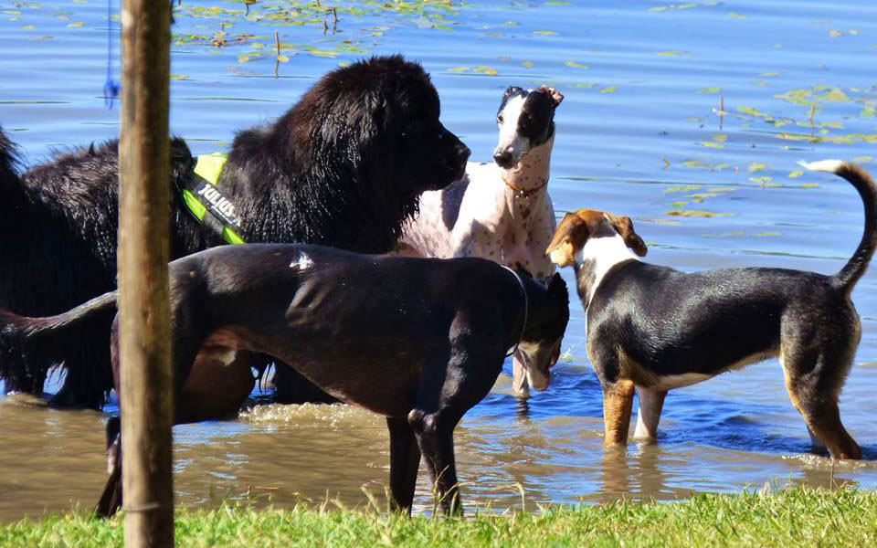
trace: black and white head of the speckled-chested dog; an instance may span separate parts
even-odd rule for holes
[[[555,109],[564,96],[553,88],[523,90],[510,86],[502,95],[496,123],[500,142],[493,151],[493,161],[510,169],[534,148],[555,136]]]

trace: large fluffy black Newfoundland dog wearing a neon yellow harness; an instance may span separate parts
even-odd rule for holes
[[[273,124],[239,132],[217,186],[235,205],[238,234],[248,242],[385,253],[416,212],[418,195],[460,177],[469,153],[439,121],[439,95],[423,68],[401,56],[375,57],[329,72]],[[0,129],[0,308],[47,316],[114,289],[117,142],[60,154],[23,174],[16,160]],[[223,243],[185,209],[181,193],[194,166],[185,142],[174,139],[172,258]],[[62,359],[67,377],[52,403],[100,407],[112,386],[111,320],[91,321],[75,355],[0,354],[6,390],[41,393]],[[251,381],[249,364],[243,370]],[[203,385],[192,390],[216,393],[213,377],[206,368]],[[275,382],[281,401],[328,397],[282,366]],[[231,400],[239,406],[243,397]]]

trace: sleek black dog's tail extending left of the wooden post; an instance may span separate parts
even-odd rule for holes
[[[83,338],[82,329],[88,326],[91,316],[116,307],[116,292],[104,293],[71,311],[45,318],[27,318],[0,309],[0,378],[9,379],[24,372],[5,364],[15,356],[37,357],[28,363],[51,364],[64,360],[66,355],[77,353]],[[37,372],[27,372],[35,374]],[[45,372],[42,372],[45,373]]]

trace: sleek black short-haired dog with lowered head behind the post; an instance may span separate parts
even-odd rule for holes
[[[481,258],[251,244],[179,258],[170,279],[178,404],[199,354],[229,362],[241,349],[276,356],[329,394],[386,416],[390,490],[396,506],[408,510],[421,455],[442,506],[459,508],[452,436],[460,417],[488,394],[513,346],[533,385],[546,386],[569,320],[559,275],[538,282]],[[114,311],[115,303],[108,293],[53,318],[0,311],[0,347],[64,353],[83,321]],[[118,385],[117,330],[118,316]],[[121,458],[112,443],[118,427],[117,419],[107,427],[113,473],[100,515],[121,501]]]

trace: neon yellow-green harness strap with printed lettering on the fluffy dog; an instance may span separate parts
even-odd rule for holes
[[[227,243],[243,244],[244,238],[236,231],[241,222],[235,206],[216,186],[226,160],[225,154],[199,155],[195,176],[183,189],[183,202],[199,222],[213,229]]]

